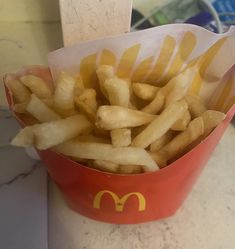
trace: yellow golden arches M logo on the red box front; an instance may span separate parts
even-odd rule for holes
[[[145,198],[144,196],[139,193],[139,192],[131,192],[128,194],[123,195],[122,197],[119,197],[117,194],[113,193],[112,191],[109,190],[102,190],[99,191],[93,201],[93,207],[99,209],[100,208],[100,203],[101,203],[101,199],[103,197],[104,194],[109,194],[115,204],[115,210],[117,212],[122,212],[124,205],[126,203],[126,201],[129,199],[129,197],[131,196],[136,196],[138,201],[139,201],[139,208],[138,211],[144,211],[146,208],[146,202],[145,202]]]

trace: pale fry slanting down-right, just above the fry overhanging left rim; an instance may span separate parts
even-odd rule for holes
[[[26,106],[26,111],[40,122],[50,122],[61,119],[61,117],[55,111],[50,109],[35,94],[31,94],[31,99]]]

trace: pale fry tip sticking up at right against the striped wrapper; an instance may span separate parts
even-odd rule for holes
[[[172,78],[161,91],[165,95],[165,106],[181,100],[187,93],[191,85],[195,69],[189,68]]]

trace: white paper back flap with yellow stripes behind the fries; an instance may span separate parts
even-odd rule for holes
[[[88,87],[97,84],[95,69],[100,64],[113,65],[120,77],[160,86],[194,67],[189,91],[209,108],[227,111],[235,102],[234,44],[235,27],[214,34],[194,25],[171,24],[61,48],[48,60],[54,80],[60,71],[68,71],[80,74]]]

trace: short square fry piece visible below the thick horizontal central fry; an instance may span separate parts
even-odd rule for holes
[[[112,145],[114,147],[125,147],[131,144],[130,129],[116,129],[110,132]]]

